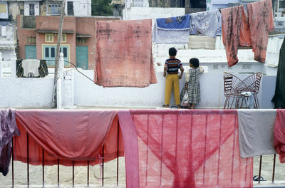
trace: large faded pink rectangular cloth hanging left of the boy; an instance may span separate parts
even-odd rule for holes
[[[152,58],[151,20],[96,23],[96,84],[142,88],[157,83]]]

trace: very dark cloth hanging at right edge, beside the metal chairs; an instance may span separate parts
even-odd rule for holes
[[[285,108],[285,38],[279,51],[279,63],[276,78],[275,94],[272,102],[275,108]]]

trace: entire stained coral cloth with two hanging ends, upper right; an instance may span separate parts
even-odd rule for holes
[[[221,14],[228,66],[234,66],[239,61],[239,46],[252,46],[254,60],[264,63],[269,32],[274,31],[271,0],[247,4],[247,13],[241,5],[222,9]]]

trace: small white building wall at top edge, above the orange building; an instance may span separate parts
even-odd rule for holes
[[[91,0],[68,0],[73,2],[74,16],[91,16]],[[67,14],[67,2],[65,6],[65,12]]]

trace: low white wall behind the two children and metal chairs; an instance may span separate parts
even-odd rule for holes
[[[84,71],[89,78],[93,78],[93,71]],[[157,84],[147,88],[103,88],[95,85],[80,73],[74,78],[74,104],[78,106],[109,106],[109,107],[142,107],[155,108],[164,103],[165,78],[162,68],[156,68]],[[203,73],[200,77],[201,103],[197,108],[223,108],[224,83],[223,73]],[[237,74],[239,78],[246,78],[249,74]],[[275,91],[276,76],[264,75],[261,81],[259,103],[261,108],[273,108],[270,102]],[[180,80],[180,90],[185,78]],[[174,105],[172,93],[171,105]]]

